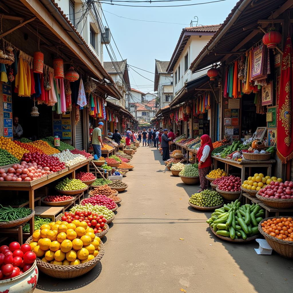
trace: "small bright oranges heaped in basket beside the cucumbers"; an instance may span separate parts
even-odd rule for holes
[[[277,239],[293,241],[293,219],[291,217],[268,219],[261,223],[261,229]]]

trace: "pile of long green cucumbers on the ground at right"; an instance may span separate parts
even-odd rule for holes
[[[258,223],[263,220],[264,210],[255,203],[240,205],[241,203],[236,200],[212,213],[207,223],[217,235],[245,240],[259,233]]]

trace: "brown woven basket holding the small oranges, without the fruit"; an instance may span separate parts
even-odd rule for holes
[[[288,218],[286,216],[282,216],[284,218]],[[271,219],[266,218],[263,219],[258,224],[258,230],[260,231],[260,234],[265,238],[265,240],[269,243],[270,247],[280,255],[284,256],[285,258],[293,258],[293,241],[285,241],[277,239],[276,237],[270,236],[269,234],[266,234],[263,229],[261,229],[261,223],[264,221]]]

